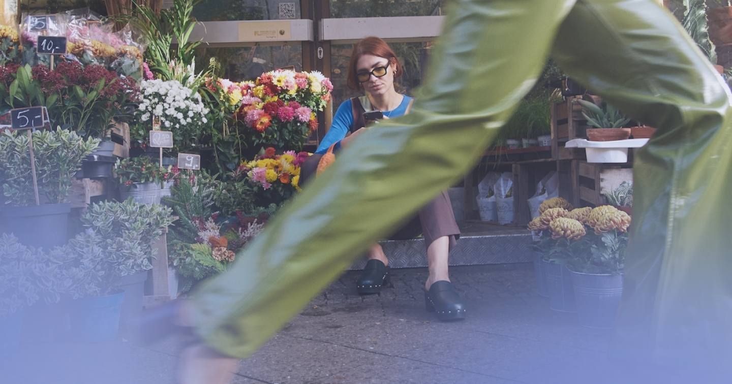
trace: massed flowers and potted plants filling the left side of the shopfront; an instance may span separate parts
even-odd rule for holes
[[[193,7],[0,26],[0,355],[115,338],[225,271],[299,191],[329,78],[197,66]]]

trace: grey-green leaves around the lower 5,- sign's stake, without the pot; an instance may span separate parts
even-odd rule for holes
[[[38,130],[32,138],[39,193],[48,203],[64,203],[71,177],[81,160],[97,148],[99,139],[84,139],[67,129]],[[10,206],[34,203],[28,142],[24,131],[0,132],[0,183],[5,203]]]

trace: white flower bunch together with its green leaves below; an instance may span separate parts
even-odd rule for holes
[[[154,119],[160,119],[160,128],[173,132],[176,151],[187,151],[198,143],[209,109],[201,102],[201,95],[183,86],[177,80],[143,80],[141,97],[135,111],[137,124],[130,127],[130,136],[138,144],[149,138]]]

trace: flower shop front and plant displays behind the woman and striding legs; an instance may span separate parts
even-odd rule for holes
[[[48,1],[0,20],[0,328],[23,324],[0,329],[0,355],[18,338],[113,339],[143,306],[225,271],[299,191],[332,106],[359,96],[348,59],[384,32],[376,19],[400,17],[384,36],[404,67],[397,91],[419,86],[441,2],[362,3],[105,1],[101,15]],[[263,29],[275,33],[255,37]],[[595,140],[592,127],[621,137]],[[549,61],[451,189],[455,217],[525,235],[517,260],[536,255],[539,294],[606,327],[612,307],[580,309],[589,295],[572,289],[619,297],[633,151],[651,133]],[[589,275],[610,282],[578,288]]]

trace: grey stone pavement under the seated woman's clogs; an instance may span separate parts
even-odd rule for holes
[[[549,309],[532,264],[451,267],[468,317],[442,323],[426,312],[426,268],[392,271],[392,287],[359,296],[347,271],[255,355],[235,384],[661,383],[630,380],[605,355],[609,330]],[[0,358],[0,384],[173,383],[181,340],[152,347],[34,342]],[[634,376],[636,379],[638,374]],[[673,379],[673,377],[671,377]],[[685,383],[664,380],[663,383]],[[688,382],[691,383],[691,382]]]

